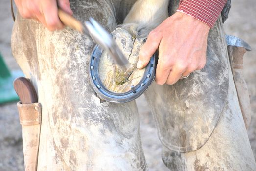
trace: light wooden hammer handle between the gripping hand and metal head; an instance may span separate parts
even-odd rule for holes
[[[83,33],[84,27],[80,21],[78,21],[73,16],[71,16],[70,14],[66,13],[65,11],[63,11],[61,9],[58,9],[58,15],[59,15],[61,22],[64,25]]]

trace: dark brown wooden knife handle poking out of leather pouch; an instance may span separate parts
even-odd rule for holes
[[[16,78],[13,86],[22,104],[38,102],[36,90],[29,79],[25,77]]]

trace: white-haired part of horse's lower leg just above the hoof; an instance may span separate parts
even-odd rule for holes
[[[168,17],[169,0],[137,0],[125,17],[122,28],[132,35],[147,36]]]

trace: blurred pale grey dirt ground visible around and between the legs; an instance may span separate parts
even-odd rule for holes
[[[224,24],[229,35],[238,36],[252,47],[244,60],[244,76],[251,95],[252,122],[248,136],[256,156],[256,19],[255,0],[232,0],[230,17]],[[10,49],[13,21],[9,0],[0,0],[0,53],[11,70],[19,69]],[[140,128],[143,149],[150,171],[167,171],[161,160],[161,144],[152,114],[148,110],[144,97],[138,99]],[[23,150],[21,126],[16,102],[0,105],[0,171],[23,171]]]

